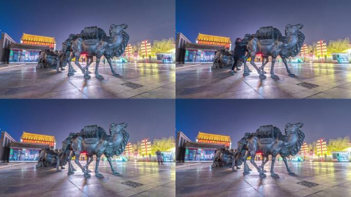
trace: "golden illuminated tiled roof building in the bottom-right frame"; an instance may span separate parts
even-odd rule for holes
[[[231,149],[231,140],[229,135],[199,132],[198,136],[196,137],[196,142],[208,144],[223,144],[225,147]]]

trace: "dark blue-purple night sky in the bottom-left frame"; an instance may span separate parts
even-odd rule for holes
[[[174,136],[174,100],[0,100],[0,128],[19,141],[22,132],[55,135],[56,146],[70,132],[128,123],[130,142]]]

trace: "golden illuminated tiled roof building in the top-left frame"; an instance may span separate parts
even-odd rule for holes
[[[21,44],[49,46],[49,48],[56,50],[56,41],[54,37],[23,33]]]

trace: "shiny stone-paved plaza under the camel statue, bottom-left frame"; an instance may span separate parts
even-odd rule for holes
[[[91,178],[86,180],[75,164],[73,175],[67,175],[67,169],[35,169],[34,163],[0,168],[0,196],[175,196],[174,163],[114,162],[120,174],[112,175],[108,162],[100,162],[104,178],[95,177],[95,162],[90,166]],[[122,184],[128,181],[143,185],[133,188]]]

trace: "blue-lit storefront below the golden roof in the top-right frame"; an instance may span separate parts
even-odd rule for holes
[[[184,63],[213,63],[214,53],[224,46],[186,44]]]

